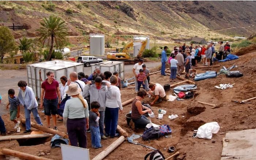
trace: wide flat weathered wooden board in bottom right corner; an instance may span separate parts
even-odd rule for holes
[[[253,160],[256,157],[256,129],[227,132],[221,160]]]

